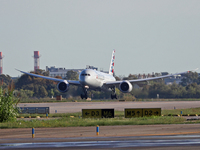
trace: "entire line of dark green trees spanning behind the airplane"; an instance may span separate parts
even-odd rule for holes
[[[32,72],[33,73],[33,72]],[[44,70],[37,70],[36,74],[49,76],[49,72]],[[136,97],[136,98],[156,98],[159,94],[159,98],[199,98],[200,97],[200,77],[196,72],[189,72],[183,75],[181,84],[175,82],[171,85],[165,85],[164,81],[156,80],[151,81],[149,84],[142,83],[141,88],[134,89],[130,93],[122,93],[119,89],[116,89],[118,98],[124,97]],[[57,76],[56,78],[61,78]],[[66,74],[67,80],[78,80],[78,73],[74,71],[68,71]],[[134,75],[130,74],[128,77],[124,77],[122,80],[137,79]],[[2,81],[2,87],[6,88],[12,81],[9,75],[0,75]],[[116,77],[116,80],[120,80]],[[62,95],[64,98],[79,98],[82,93],[82,88],[77,86],[71,86],[68,92],[60,93],[57,89],[57,82],[37,78],[23,74],[17,80],[14,81],[15,95],[20,95],[21,99],[28,98],[45,98],[55,97]],[[89,91],[88,96],[92,99],[109,99],[110,92]]]

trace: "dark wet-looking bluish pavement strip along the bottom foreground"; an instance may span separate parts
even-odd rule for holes
[[[199,149],[200,135],[64,138],[78,142],[5,143],[0,149]],[[51,139],[53,140],[53,139]]]

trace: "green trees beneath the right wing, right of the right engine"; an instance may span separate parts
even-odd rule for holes
[[[166,85],[163,80],[151,81],[131,92],[136,98],[200,98],[200,77],[197,72],[183,74],[181,83]]]

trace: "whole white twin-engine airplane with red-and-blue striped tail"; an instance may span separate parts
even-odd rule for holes
[[[108,74],[97,71],[97,70],[93,70],[93,69],[85,69],[79,74],[79,81],[57,79],[57,78],[52,78],[52,77],[47,77],[47,76],[24,72],[24,71],[21,71],[18,69],[16,69],[16,70],[20,71],[21,73],[30,75],[30,76],[39,77],[39,78],[53,80],[53,81],[58,82],[57,88],[61,93],[67,92],[70,88],[70,85],[81,86],[83,89],[83,93],[84,93],[84,94],[80,95],[82,99],[88,98],[88,95],[87,95],[88,90],[111,91],[112,92],[111,99],[117,99],[116,90],[115,90],[117,86],[121,92],[129,93],[132,91],[132,88],[133,88],[132,84],[134,84],[134,83],[144,82],[144,81],[148,82],[151,80],[168,78],[171,76],[185,74],[185,73],[189,72],[189,71],[185,71],[185,72],[181,72],[181,73],[175,73],[175,74],[171,74],[171,75],[151,77],[151,78],[145,78],[145,79],[116,81],[115,77],[113,76],[114,61],[115,61],[115,50],[113,50],[113,52],[112,52],[112,57],[111,57]],[[195,69],[195,70],[197,70],[197,69]],[[195,71],[195,70],[193,70],[193,71]]]

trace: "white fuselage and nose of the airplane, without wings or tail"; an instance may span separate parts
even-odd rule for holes
[[[103,86],[104,83],[107,81],[116,81],[116,79],[107,73],[85,69],[80,73],[79,81],[83,87],[91,90],[109,90]]]

